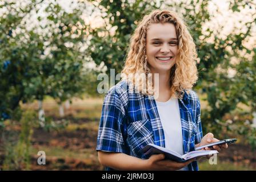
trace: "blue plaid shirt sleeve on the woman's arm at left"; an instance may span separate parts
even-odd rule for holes
[[[126,153],[125,131],[125,108],[115,89],[110,89],[103,101],[96,150]]]

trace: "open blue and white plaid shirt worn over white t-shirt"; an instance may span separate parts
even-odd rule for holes
[[[193,151],[203,137],[200,101],[190,90],[178,99],[181,114],[184,154]],[[120,81],[109,89],[102,106],[96,150],[122,152],[141,159],[149,156],[138,151],[149,143],[165,147],[165,135],[154,96],[129,93],[126,81]],[[189,170],[197,171],[198,164],[189,164]],[[106,167],[107,170],[111,168]]]

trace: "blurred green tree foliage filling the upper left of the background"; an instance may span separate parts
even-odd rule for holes
[[[47,6],[43,3],[0,3],[1,126],[5,119],[18,119],[21,101],[51,96],[60,104],[91,92],[93,85],[87,85],[94,73],[85,69],[88,61],[83,50],[86,26],[81,15],[85,4],[77,2],[68,13],[56,1]],[[38,26],[30,26],[30,17],[36,18]]]

